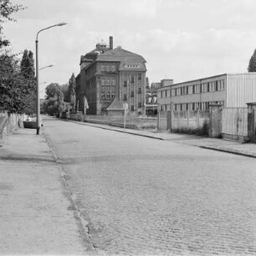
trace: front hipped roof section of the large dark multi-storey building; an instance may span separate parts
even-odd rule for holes
[[[106,51],[104,54],[100,54],[96,61],[122,61],[146,63],[146,60],[141,55],[131,53],[125,49],[121,49],[120,47]]]

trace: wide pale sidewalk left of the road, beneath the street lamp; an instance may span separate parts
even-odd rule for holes
[[[44,136],[18,129],[0,146],[0,254],[92,251]]]

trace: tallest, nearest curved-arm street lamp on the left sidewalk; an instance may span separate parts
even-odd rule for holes
[[[36,37],[36,76],[37,76],[37,135],[39,134],[39,131],[40,131],[40,99],[39,99],[39,76],[38,76],[38,34],[46,29],[49,29],[49,28],[54,28],[54,27],[57,27],[57,26],[64,26],[66,25],[67,23],[58,23],[58,24],[55,24],[53,26],[50,26],[48,28],[43,28],[41,30],[38,31],[37,33],[37,37]]]

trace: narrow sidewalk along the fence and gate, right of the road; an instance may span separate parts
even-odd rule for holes
[[[69,120],[73,121],[73,120]],[[199,146],[202,148],[215,150],[215,151],[224,151],[228,153],[238,154],[241,156],[256,157],[256,144],[253,143],[243,143],[240,141],[231,141],[225,139],[214,139],[202,136],[193,136],[187,134],[177,134],[170,133],[169,131],[138,131],[131,129],[123,129],[110,125],[100,125],[100,124],[91,124],[84,123],[79,121],[74,121],[79,125],[90,125],[95,126],[101,129],[112,130],[125,132],[136,136],[146,136],[154,138],[157,140],[164,141],[173,141],[183,145]]]

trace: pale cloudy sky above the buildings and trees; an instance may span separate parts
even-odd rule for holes
[[[15,53],[35,57],[39,33],[41,91],[79,74],[80,56],[103,39],[141,54],[150,83],[174,83],[223,73],[244,73],[256,49],[255,0],[12,0],[27,8],[5,23]],[[43,84],[45,82],[45,84]]]

